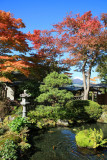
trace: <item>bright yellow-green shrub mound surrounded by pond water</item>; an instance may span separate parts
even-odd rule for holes
[[[86,129],[77,133],[76,143],[79,147],[97,148],[104,146],[107,143],[107,139],[103,140],[103,132],[94,129]]]

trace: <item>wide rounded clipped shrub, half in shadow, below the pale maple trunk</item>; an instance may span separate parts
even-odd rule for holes
[[[73,120],[97,120],[102,113],[101,106],[90,100],[73,100],[65,105],[66,117]]]

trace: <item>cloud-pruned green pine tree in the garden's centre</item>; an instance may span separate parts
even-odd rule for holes
[[[59,89],[67,84],[71,84],[71,79],[65,74],[50,73],[40,85],[41,94],[36,98],[36,101],[44,106],[63,107],[73,97],[71,92]]]

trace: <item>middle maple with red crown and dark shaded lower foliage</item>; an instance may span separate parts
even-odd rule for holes
[[[28,33],[28,39],[33,44],[33,53],[28,57],[28,60],[32,62],[36,77],[42,80],[52,71],[60,72],[66,69],[63,65],[63,67],[60,66],[61,51],[57,47],[56,39],[50,31],[34,30],[33,34]]]

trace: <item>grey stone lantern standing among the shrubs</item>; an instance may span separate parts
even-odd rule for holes
[[[30,97],[30,95],[27,94],[26,90],[24,90],[24,93],[20,94],[20,97],[22,98],[22,101],[20,104],[23,106],[22,117],[26,117],[26,105],[30,103],[30,102],[27,102],[26,99],[27,97]]]

